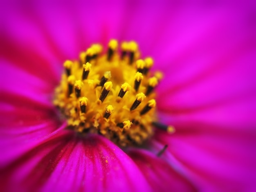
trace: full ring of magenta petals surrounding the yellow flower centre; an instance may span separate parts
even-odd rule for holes
[[[253,3],[0,7],[1,191],[254,190]],[[63,62],[111,38],[136,40],[164,72],[157,114],[174,134],[122,150],[65,129],[53,105]]]

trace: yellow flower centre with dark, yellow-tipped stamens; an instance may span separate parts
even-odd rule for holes
[[[139,59],[136,42],[110,40],[108,51],[94,44],[79,61],[66,60],[56,88],[54,105],[65,115],[69,128],[101,134],[120,146],[141,145],[153,135],[153,126],[168,132],[173,127],[155,123],[154,88],[162,78],[150,74],[150,57]]]

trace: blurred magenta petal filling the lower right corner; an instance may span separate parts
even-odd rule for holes
[[[203,191],[254,189],[254,134],[157,132],[156,141],[168,144],[163,157]],[[157,146],[154,143],[154,146]]]

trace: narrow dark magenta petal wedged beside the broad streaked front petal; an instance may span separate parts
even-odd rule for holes
[[[195,191],[184,175],[177,173],[166,161],[155,154],[142,150],[130,150],[128,155],[135,161],[153,191]]]

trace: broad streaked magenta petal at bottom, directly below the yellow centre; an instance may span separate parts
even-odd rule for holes
[[[137,165],[98,135],[63,131],[1,171],[3,190],[148,191]]]

